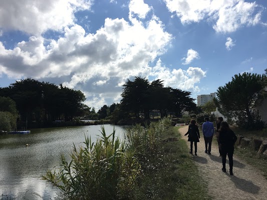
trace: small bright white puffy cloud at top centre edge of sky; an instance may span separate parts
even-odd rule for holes
[[[152,9],[144,0],[131,0],[129,3],[129,18],[136,14],[139,18],[145,18],[146,14]]]

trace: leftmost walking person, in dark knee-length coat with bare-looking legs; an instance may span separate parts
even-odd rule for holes
[[[185,135],[188,135],[188,141],[190,141],[190,152],[193,153],[193,142],[195,146],[195,155],[197,152],[197,142],[199,142],[200,134],[198,127],[196,125],[196,121],[194,119],[191,120],[191,124],[188,126],[188,131],[185,133]]]

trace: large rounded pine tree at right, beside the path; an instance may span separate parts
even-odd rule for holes
[[[256,115],[252,113],[257,101],[266,96],[266,76],[244,72],[235,74],[232,80],[217,89],[215,104],[227,118],[237,118],[255,127]],[[240,124],[240,123],[239,123]]]

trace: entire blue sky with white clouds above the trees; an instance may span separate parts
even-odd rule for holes
[[[135,76],[216,92],[267,68],[267,0],[1,0],[0,87],[33,78],[100,109]]]

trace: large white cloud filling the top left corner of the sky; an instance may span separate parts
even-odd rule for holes
[[[1,0],[0,28],[40,35],[73,25],[74,13],[90,9],[93,0]]]

